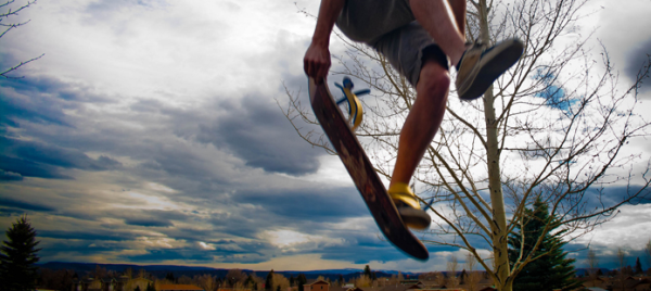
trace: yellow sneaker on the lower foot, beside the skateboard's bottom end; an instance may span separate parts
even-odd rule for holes
[[[420,208],[420,203],[416,199],[409,186],[403,182],[395,184],[388,189],[388,195],[394,201],[403,223],[409,228],[423,230],[430,227],[432,218]]]

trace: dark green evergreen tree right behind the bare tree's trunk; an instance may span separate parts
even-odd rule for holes
[[[523,218],[524,229],[520,229],[520,225],[513,230],[509,237],[509,261],[511,265],[515,263],[520,254],[522,232],[524,232],[524,251],[523,258],[529,254],[532,257],[541,257],[529,262],[524,266],[522,271],[518,274],[513,281],[513,291],[552,291],[554,289],[573,290],[580,287],[580,282],[575,280],[574,258],[565,258],[566,252],[563,252],[562,246],[565,245],[561,239],[564,230],[551,233],[553,229],[542,232],[545,225],[550,217],[549,208],[545,202],[537,199],[534,202],[533,210],[524,210]],[[539,237],[544,237],[537,250],[532,250]]]

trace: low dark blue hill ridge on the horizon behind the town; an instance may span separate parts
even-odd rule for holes
[[[194,277],[196,275],[209,274],[219,278],[224,278],[228,274],[229,269],[201,267],[201,266],[178,266],[178,265],[132,265],[132,264],[95,264],[95,263],[69,263],[69,262],[49,262],[43,264],[37,264],[41,268],[48,269],[71,269],[77,273],[79,276],[86,276],[95,269],[95,266],[105,268],[106,270],[125,271],[127,268],[131,268],[135,273],[140,269],[144,269],[146,273],[157,278],[164,278],[168,273],[174,274],[175,277],[188,276]],[[252,274],[255,273],[258,277],[267,277],[269,270],[252,270],[242,269],[243,273]],[[304,274],[307,279],[316,279],[319,276],[329,278],[331,280],[337,280],[339,276],[343,276],[347,281],[350,278],[357,278],[361,276],[361,269],[345,268],[345,269],[321,269],[321,270],[280,270],[277,274],[282,274],[285,277],[298,276]],[[375,276],[378,277],[391,277],[397,275],[397,270],[376,270]],[[413,273],[403,273],[405,276],[418,276]]]

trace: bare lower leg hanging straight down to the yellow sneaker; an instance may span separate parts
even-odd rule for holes
[[[409,184],[441,126],[449,84],[448,71],[438,62],[426,60],[416,86],[416,102],[400,130],[398,156],[390,188],[397,182]]]

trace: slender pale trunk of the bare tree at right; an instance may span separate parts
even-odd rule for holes
[[[480,0],[480,21],[482,42],[490,45],[486,0]],[[507,242],[509,233],[507,233],[507,213],[505,210],[499,168],[500,152],[497,128],[498,123],[495,116],[495,96],[493,94],[493,86],[484,93],[484,117],[486,119],[488,190],[490,191],[490,203],[493,206],[490,230],[493,231],[493,253],[495,257],[494,271],[497,278],[495,286],[500,291],[511,291],[513,284],[512,279],[510,278],[511,268],[509,266],[509,245]]]

